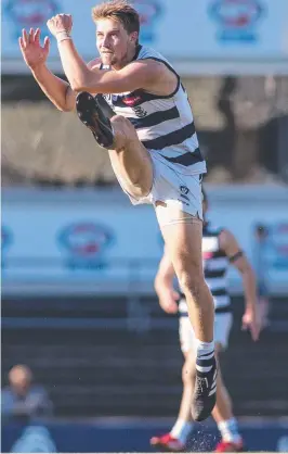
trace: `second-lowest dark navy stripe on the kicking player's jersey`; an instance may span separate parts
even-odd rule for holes
[[[162,150],[163,148],[175,146],[189,139],[195,134],[194,122],[181,129],[157,137],[157,139],[142,140],[145,148],[153,150]],[[188,152],[186,154],[193,154]],[[180,156],[182,157],[182,156]],[[172,161],[173,162],[173,161]]]

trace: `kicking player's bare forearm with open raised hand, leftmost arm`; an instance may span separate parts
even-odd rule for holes
[[[29,33],[23,30],[18,41],[24,61],[45,96],[58,110],[73,111],[76,93],[69,84],[51,73],[45,64],[50,48],[49,38],[45,37],[43,46],[41,46],[40,29],[30,28]]]

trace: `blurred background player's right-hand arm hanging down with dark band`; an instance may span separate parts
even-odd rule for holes
[[[259,338],[260,326],[257,305],[257,283],[253,269],[243,253],[236,238],[228,230],[220,234],[220,248],[225,252],[230,262],[241,274],[246,311],[243,316],[243,328],[249,328],[253,340]]]

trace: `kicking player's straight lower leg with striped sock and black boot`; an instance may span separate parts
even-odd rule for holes
[[[196,336],[196,379],[192,417],[208,418],[215,405],[217,362],[214,357],[214,304],[202,273],[202,223],[196,216],[173,211],[163,203],[156,207],[159,225],[180,287],[185,294]]]

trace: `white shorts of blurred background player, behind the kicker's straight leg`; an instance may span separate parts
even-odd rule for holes
[[[230,331],[233,324],[231,313],[215,314],[214,318],[214,342],[220,343],[222,349],[226,349],[228,344]],[[180,345],[183,353],[191,350],[195,351],[195,333],[187,316],[180,317],[179,320]]]

